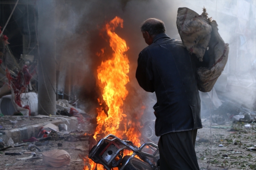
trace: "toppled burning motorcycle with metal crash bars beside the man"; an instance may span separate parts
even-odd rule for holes
[[[125,155],[124,150],[130,150],[132,155]],[[142,151],[143,150],[143,151]],[[137,155],[140,159],[136,158]],[[118,167],[119,170],[159,170],[158,146],[147,142],[140,147],[131,141],[119,139],[109,134],[100,139],[89,152],[90,159],[101,164],[107,170]]]

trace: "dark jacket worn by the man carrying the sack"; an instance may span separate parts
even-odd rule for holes
[[[139,54],[136,79],[144,90],[156,92],[156,136],[202,128],[196,62],[181,41],[165,33]]]

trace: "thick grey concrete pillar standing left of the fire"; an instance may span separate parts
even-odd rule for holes
[[[56,115],[55,0],[39,0],[38,113]]]

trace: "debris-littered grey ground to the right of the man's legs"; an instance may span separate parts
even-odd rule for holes
[[[200,169],[211,170],[241,170],[256,169],[255,123],[249,122],[250,128],[245,128],[248,122],[236,122],[224,125],[203,122],[203,128],[198,130],[195,150]],[[210,149],[210,130],[212,145]],[[223,147],[219,147],[222,144]]]

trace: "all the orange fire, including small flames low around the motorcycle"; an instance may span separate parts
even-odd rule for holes
[[[102,98],[106,104],[103,104],[103,101],[98,99],[102,107],[97,108],[98,116],[96,119],[98,126],[93,137],[96,139],[97,134],[104,133],[107,135],[111,133],[121,139],[125,137],[136,146],[139,146],[141,136],[137,129],[139,121],[129,120],[122,109],[123,101],[128,95],[125,85],[129,82],[127,75],[129,73],[129,60],[125,52],[129,47],[126,46],[125,40],[114,32],[118,26],[123,27],[123,20],[117,16],[105,26],[113,54],[108,56],[110,59],[102,61],[97,68],[98,86],[102,90]],[[104,49],[101,49],[100,53],[96,53],[96,55],[104,55]],[[108,110],[106,110],[106,107]],[[135,117],[135,119],[138,119],[138,117]],[[131,153],[126,151],[124,155],[127,154]],[[96,166],[92,160],[89,160],[89,164],[91,165],[91,170]],[[104,168],[102,165],[97,165],[97,169],[103,170]],[[86,166],[83,170],[89,170],[89,168]],[[118,170],[118,168],[114,168],[114,170]]]

